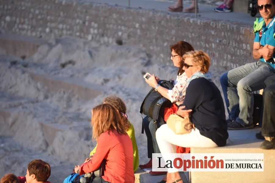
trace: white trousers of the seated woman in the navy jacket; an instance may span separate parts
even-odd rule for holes
[[[177,153],[176,145],[180,147],[217,147],[213,140],[202,136],[197,128],[192,129],[190,133],[177,135],[167,124],[157,129],[156,139],[165,161],[169,159],[167,153]],[[168,168],[169,173],[176,171],[177,169]]]

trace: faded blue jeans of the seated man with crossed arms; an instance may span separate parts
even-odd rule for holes
[[[251,125],[253,114],[253,92],[264,88],[264,81],[275,74],[268,63],[258,61],[232,69],[220,77],[228,119],[242,125]],[[237,117],[236,113],[240,109]]]

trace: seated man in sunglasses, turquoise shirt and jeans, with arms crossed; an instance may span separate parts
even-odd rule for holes
[[[255,63],[245,64],[224,73],[220,78],[228,111],[227,126],[230,130],[253,128],[253,91],[264,88],[266,78],[275,75],[275,0],[258,0],[261,18],[254,22]],[[240,113],[236,116],[238,109]]]

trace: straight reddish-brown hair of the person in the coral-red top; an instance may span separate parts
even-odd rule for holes
[[[93,126],[93,139],[106,131],[116,131],[119,134],[127,134],[123,127],[121,115],[111,104],[101,104],[92,109],[91,125]]]

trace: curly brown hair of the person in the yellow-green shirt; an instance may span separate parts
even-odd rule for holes
[[[128,121],[128,119],[125,116],[121,115],[121,113],[126,114],[126,111],[127,111],[126,105],[123,102],[123,100],[121,98],[119,98],[118,96],[112,95],[112,96],[104,98],[103,103],[111,104],[118,110],[118,112],[120,113],[120,117],[124,124],[124,130],[128,131],[128,129],[130,128],[130,122]]]

